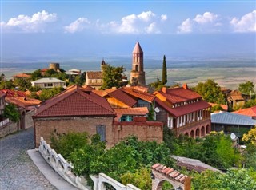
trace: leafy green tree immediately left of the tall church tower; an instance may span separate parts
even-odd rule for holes
[[[125,71],[123,66],[114,67],[106,64],[103,69],[103,84],[101,89],[119,88],[122,85],[122,74]]]

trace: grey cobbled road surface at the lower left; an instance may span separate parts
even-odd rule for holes
[[[34,165],[34,128],[0,139],[0,190],[55,190]]]

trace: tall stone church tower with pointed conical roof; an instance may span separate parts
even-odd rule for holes
[[[143,66],[143,51],[138,41],[135,44],[133,51],[133,65],[130,71],[130,84],[146,85],[145,72]]]

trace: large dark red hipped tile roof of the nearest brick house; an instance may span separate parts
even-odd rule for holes
[[[46,101],[34,115],[35,118],[71,116],[114,117],[115,113],[105,98],[92,92],[84,92],[82,88],[74,85]]]

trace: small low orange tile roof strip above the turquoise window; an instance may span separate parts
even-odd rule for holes
[[[149,110],[146,107],[138,107],[138,108],[126,108],[126,109],[114,109],[114,112],[117,113],[117,117],[115,117],[114,120],[119,121],[122,115],[146,116],[146,114],[149,113]]]

